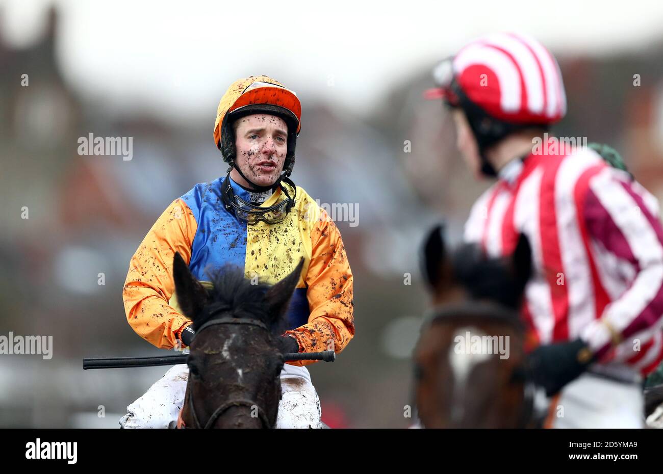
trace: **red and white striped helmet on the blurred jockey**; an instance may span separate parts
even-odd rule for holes
[[[464,46],[434,72],[429,98],[458,105],[452,80],[469,101],[507,123],[550,125],[566,114],[566,94],[555,58],[523,34],[497,33]]]

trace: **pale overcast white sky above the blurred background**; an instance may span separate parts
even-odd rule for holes
[[[656,0],[0,0],[5,37],[29,44],[50,3],[61,7],[58,56],[72,86],[113,107],[184,116],[215,111],[230,82],[251,74],[361,115],[485,32],[528,32],[554,52],[591,54],[663,38]]]

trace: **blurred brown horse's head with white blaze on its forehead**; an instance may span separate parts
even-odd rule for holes
[[[449,253],[436,227],[423,256],[434,309],[414,351],[422,426],[526,426],[531,400],[518,310],[531,271],[527,239],[520,237],[511,258],[489,259],[476,245]]]

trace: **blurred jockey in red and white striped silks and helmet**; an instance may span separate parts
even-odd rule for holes
[[[457,147],[497,178],[465,240],[490,256],[532,245],[522,317],[546,426],[642,427],[642,376],[663,357],[663,227],[658,203],[619,166],[548,135],[566,113],[558,64],[536,40],[493,34],[435,70]],[[536,347],[536,349],[534,349]]]

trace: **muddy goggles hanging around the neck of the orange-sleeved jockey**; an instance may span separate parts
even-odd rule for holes
[[[263,207],[253,204],[252,202],[247,202],[237,196],[233,191],[233,187],[230,185],[230,179],[230,174],[227,174],[223,181],[223,186],[221,186],[221,198],[223,198],[223,204],[227,211],[233,211],[237,219],[246,222],[248,225],[256,225],[259,222],[265,222],[268,224],[279,223],[286,218],[286,215],[288,215],[288,212],[290,212],[290,209],[294,206],[297,197],[297,187],[290,178],[283,176],[278,181],[278,185],[286,198],[269,207]],[[288,189],[283,186],[282,181],[285,181],[294,190],[292,198],[290,198]]]

